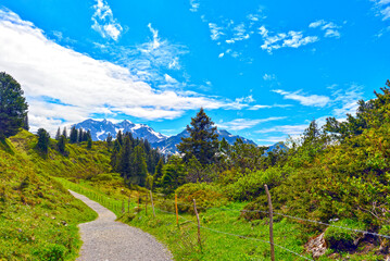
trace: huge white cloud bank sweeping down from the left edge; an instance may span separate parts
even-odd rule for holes
[[[21,83],[33,130],[55,130],[58,126],[51,124],[72,124],[96,114],[163,120],[200,107],[242,107],[196,92],[153,89],[130,69],[62,47],[8,10],[0,10],[0,69]]]

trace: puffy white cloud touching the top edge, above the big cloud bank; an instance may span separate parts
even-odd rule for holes
[[[98,32],[103,38],[111,38],[117,40],[123,28],[121,24],[114,18],[112,10],[105,0],[96,0],[93,5],[95,13],[92,15],[92,29]]]

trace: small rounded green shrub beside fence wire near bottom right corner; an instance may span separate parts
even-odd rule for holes
[[[342,226],[348,227],[352,229],[358,229],[358,231],[365,231],[365,225],[363,223],[356,222],[354,220],[341,220],[336,223],[334,223],[336,226]],[[345,251],[345,250],[352,250],[355,249],[358,245],[360,238],[363,238],[364,236],[362,233],[344,229],[344,228],[338,228],[334,226],[329,226],[325,231],[324,238],[327,243],[327,245],[337,251]]]

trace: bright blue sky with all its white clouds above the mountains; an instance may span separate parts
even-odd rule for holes
[[[200,107],[272,145],[390,77],[390,0],[3,0],[0,71],[33,130],[88,117],[180,132]]]

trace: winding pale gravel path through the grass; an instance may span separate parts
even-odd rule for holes
[[[78,261],[173,260],[171,252],[153,236],[116,222],[116,215],[106,208],[70,191],[99,214],[97,220],[79,225],[84,244]]]

